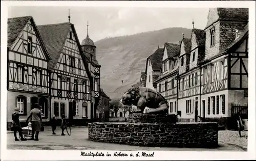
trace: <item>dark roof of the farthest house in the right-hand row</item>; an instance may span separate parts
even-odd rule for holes
[[[148,57],[151,60],[152,69],[153,70],[160,70],[161,62],[162,62],[162,56],[163,56],[163,48],[158,48],[153,55]]]

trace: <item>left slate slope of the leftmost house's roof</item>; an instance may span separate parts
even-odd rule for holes
[[[8,47],[13,44],[31,18],[32,16],[8,18]]]

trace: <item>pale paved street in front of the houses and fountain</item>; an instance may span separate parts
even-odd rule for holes
[[[66,132],[66,131],[65,131]],[[222,142],[216,149],[202,148],[173,148],[173,147],[139,147],[119,145],[112,143],[93,142],[88,140],[87,127],[72,127],[71,136],[60,136],[61,130],[57,127],[57,135],[52,135],[51,128],[45,127],[44,132],[39,133],[39,141],[14,141],[12,131],[7,132],[8,149],[26,150],[161,150],[161,151],[243,151],[236,145],[228,145]]]

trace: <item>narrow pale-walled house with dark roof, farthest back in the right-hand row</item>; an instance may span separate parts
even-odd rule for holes
[[[161,59],[163,55],[163,48],[158,48],[156,51],[146,59],[145,69],[145,87],[157,90],[156,79],[160,75]]]

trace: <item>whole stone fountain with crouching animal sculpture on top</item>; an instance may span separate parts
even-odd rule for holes
[[[145,91],[146,90],[146,91]],[[139,87],[134,99],[131,91],[123,95],[123,104],[136,104],[138,109],[129,115],[128,122],[89,123],[89,140],[117,144],[154,147],[215,148],[218,146],[218,124],[177,122],[177,115],[167,114],[165,99],[155,91]],[[146,96],[147,99],[143,99]],[[146,102],[158,107],[143,114]],[[143,104],[143,105],[141,105]],[[160,105],[159,105],[160,104]]]

